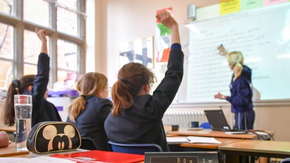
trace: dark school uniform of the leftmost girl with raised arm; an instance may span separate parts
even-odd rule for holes
[[[40,53],[37,62],[37,75],[33,81],[31,91],[23,94],[32,96],[31,127],[44,121],[62,121],[56,107],[44,99],[44,94],[48,85],[49,77],[49,57],[45,53]]]

